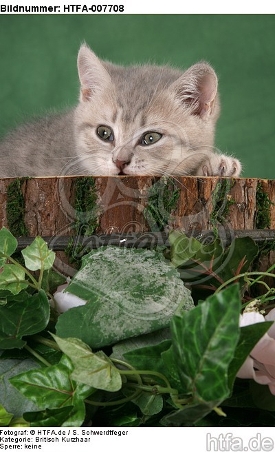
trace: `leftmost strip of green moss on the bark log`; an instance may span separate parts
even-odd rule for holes
[[[25,227],[25,202],[21,192],[21,185],[25,178],[14,179],[7,189],[7,220],[8,229],[15,237],[28,236],[28,229]]]

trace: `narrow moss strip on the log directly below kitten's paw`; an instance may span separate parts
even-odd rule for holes
[[[229,192],[234,185],[234,180],[224,178],[221,179],[212,192],[213,209],[210,215],[210,223],[217,229],[218,223],[225,223],[229,216],[229,207],[235,203]]]

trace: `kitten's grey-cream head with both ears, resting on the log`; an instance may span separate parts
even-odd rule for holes
[[[214,142],[217,76],[207,63],[123,68],[83,45],[74,174],[196,174]],[[69,168],[68,168],[69,170]]]

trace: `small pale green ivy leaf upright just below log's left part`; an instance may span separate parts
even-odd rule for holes
[[[32,245],[22,251],[25,266],[30,270],[47,270],[54,265],[55,253],[47,247],[43,238],[37,236]]]

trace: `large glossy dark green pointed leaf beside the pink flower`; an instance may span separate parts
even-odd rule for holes
[[[228,367],[239,339],[239,285],[174,316],[171,329],[179,378],[196,403],[219,404],[229,394]]]

